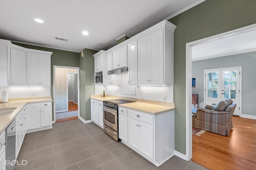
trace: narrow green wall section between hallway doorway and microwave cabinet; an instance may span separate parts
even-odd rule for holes
[[[84,49],[84,57],[81,53],[80,60],[80,116],[84,120],[91,119],[90,95],[94,95],[94,55],[98,51]]]

